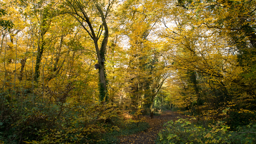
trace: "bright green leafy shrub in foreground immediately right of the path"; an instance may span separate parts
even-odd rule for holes
[[[228,128],[223,122],[205,128],[181,118],[164,124],[156,143],[226,143],[230,137]]]

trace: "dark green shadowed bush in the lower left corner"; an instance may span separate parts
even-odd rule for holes
[[[1,97],[0,140],[5,143],[20,143],[23,140],[41,139],[41,131],[52,129],[60,108],[47,103],[33,103],[25,99],[22,103],[12,102]],[[33,104],[32,104],[33,103]]]

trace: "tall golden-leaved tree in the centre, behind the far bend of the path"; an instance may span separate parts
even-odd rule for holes
[[[129,47],[124,47],[126,80],[132,105],[137,108],[153,108],[154,99],[169,76],[162,61],[162,46],[157,37],[158,13],[161,7],[156,1],[125,1],[118,11],[121,35],[129,38]],[[153,6],[154,5],[154,6]],[[132,14],[131,14],[132,13]]]

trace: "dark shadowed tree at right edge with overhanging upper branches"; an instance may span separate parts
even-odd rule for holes
[[[255,103],[255,7],[256,1],[179,1],[178,5],[196,12],[197,21],[208,29],[230,37],[230,47],[237,51],[239,71],[231,83],[236,85],[238,95],[246,92]],[[243,94],[242,94],[243,95]],[[243,97],[241,95],[241,98]],[[239,96],[240,97],[240,96]],[[251,103],[249,102],[249,103]],[[247,102],[248,103],[248,102]],[[255,105],[251,108],[254,109]]]

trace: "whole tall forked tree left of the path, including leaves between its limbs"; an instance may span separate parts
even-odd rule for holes
[[[67,10],[62,9],[62,13],[73,16],[90,36],[95,46],[99,64],[100,101],[108,101],[108,82],[105,70],[106,47],[109,37],[107,18],[114,3],[115,1],[63,1],[63,7],[66,7]]]

